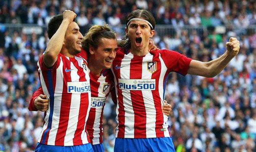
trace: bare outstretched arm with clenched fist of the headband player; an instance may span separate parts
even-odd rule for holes
[[[217,59],[211,60],[210,62],[192,60],[188,68],[188,74],[205,76],[208,78],[216,76],[227,66],[228,62],[238,54],[240,49],[239,43],[237,38],[231,37],[226,43],[227,51]]]

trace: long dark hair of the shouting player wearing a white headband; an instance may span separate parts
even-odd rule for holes
[[[133,18],[143,18],[152,25],[152,27],[150,26],[151,30],[155,29],[156,21],[154,19],[154,16],[149,11],[144,10],[144,9],[136,9],[135,11],[132,11],[126,19],[126,28],[128,28],[127,23]],[[131,48],[131,42],[129,40],[128,35],[126,35],[124,38],[122,38],[122,40],[127,40],[127,39],[128,39],[128,41],[122,47]]]

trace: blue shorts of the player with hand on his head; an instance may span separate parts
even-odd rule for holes
[[[77,146],[52,146],[37,142],[35,152],[93,152],[91,143]]]

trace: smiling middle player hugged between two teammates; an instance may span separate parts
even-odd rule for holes
[[[115,51],[117,49],[117,41],[115,34],[107,25],[92,26],[83,38],[82,42],[84,50],[87,54],[81,53],[76,56],[81,56],[87,60],[90,75],[91,85],[91,110],[86,123],[86,130],[92,144],[94,152],[104,152],[102,144],[102,113],[104,102],[109,95],[110,90],[113,90],[113,75],[110,70],[113,59],[115,58]],[[88,57],[87,57],[88,56]],[[29,110],[46,111],[48,109],[48,99],[44,99],[41,89],[33,94],[33,98],[29,104]],[[38,97],[39,95],[39,97]],[[115,93],[112,97],[116,101]],[[37,98],[38,97],[38,98]],[[41,107],[38,105],[42,105]],[[170,113],[170,105],[163,107],[165,114]]]

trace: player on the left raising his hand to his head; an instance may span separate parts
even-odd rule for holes
[[[42,90],[50,99],[36,152],[92,152],[86,133],[91,107],[89,72],[81,52],[76,14],[65,10],[47,28],[50,41],[37,63]],[[81,100],[83,99],[83,100]]]

